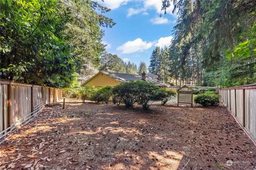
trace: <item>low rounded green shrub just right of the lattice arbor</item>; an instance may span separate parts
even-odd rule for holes
[[[194,98],[195,103],[202,106],[217,106],[220,103],[220,95],[215,95],[213,92],[206,92],[205,94],[198,94]]]

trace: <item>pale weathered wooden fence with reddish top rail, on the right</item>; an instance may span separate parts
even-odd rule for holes
[[[219,89],[221,100],[256,141],[256,84]]]

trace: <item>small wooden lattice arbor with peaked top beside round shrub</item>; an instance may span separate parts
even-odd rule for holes
[[[179,103],[191,104],[193,107],[193,92],[194,90],[186,85],[177,90],[178,93],[178,106]]]

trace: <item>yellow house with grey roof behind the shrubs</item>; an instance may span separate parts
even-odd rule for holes
[[[129,82],[132,80],[141,80],[147,81],[150,83],[154,83],[158,87],[168,87],[169,84],[161,81],[161,77],[155,74],[146,74],[142,73],[142,75],[135,74],[125,74],[125,73],[113,73],[113,72],[105,72],[100,71],[97,74],[93,75],[92,78],[82,83],[82,86],[94,86],[94,87],[102,87],[102,86],[116,86],[123,82]]]

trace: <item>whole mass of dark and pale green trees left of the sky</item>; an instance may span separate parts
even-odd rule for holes
[[[0,76],[69,87],[105,51],[101,27],[115,23],[109,9],[86,0],[0,1]],[[100,13],[98,13],[100,12]],[[84,64],[85,63],[85,64]]]

